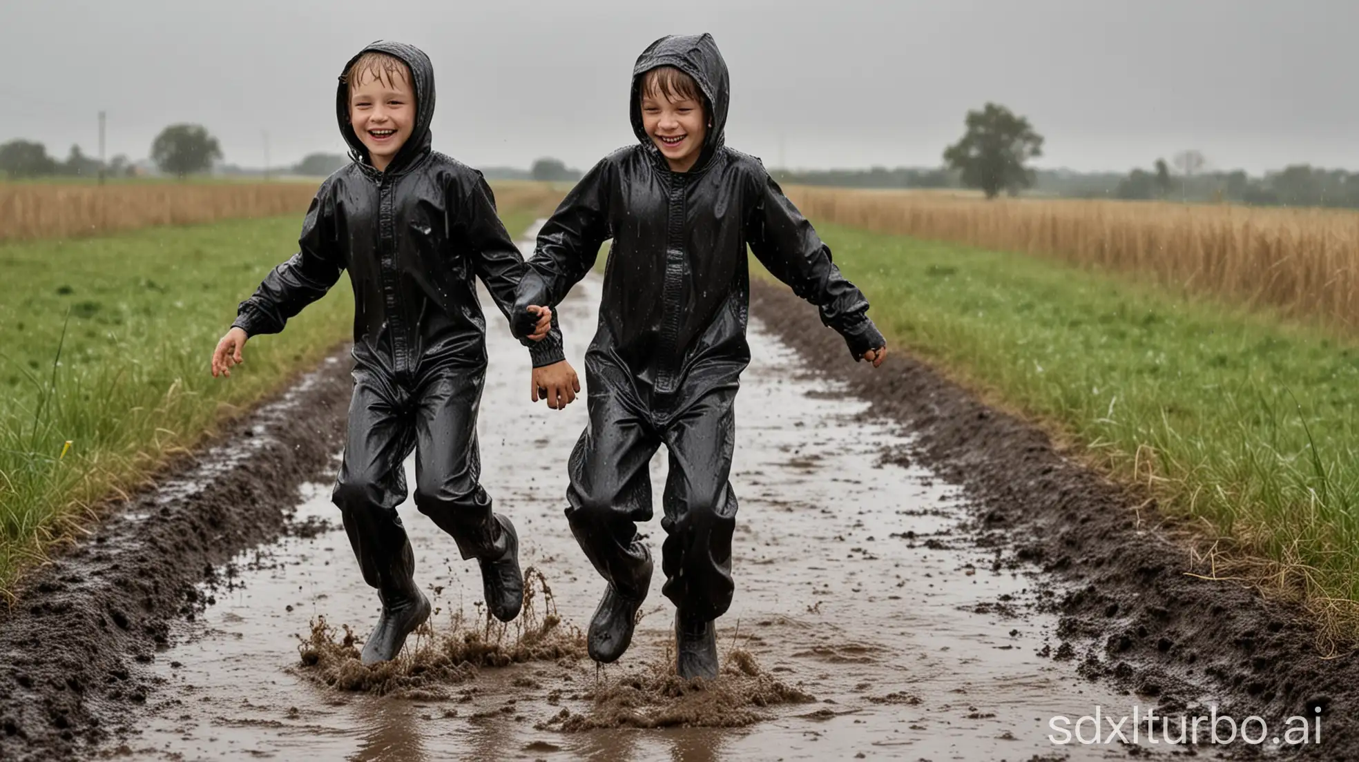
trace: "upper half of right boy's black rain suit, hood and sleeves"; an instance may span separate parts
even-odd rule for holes
[[[692,76],[711,110],[703,153],[688,173],[671,171],[641,126],[639,81],[663,65]],[[629,94],[639,143],[586,173],[538,234],[520,304],[560,302],[613,240],[599,331],[586,355],[591,398],[607,387],[641,405],[654,394],[696,401],[735,384],[750,361],[747,244],[819,308],[856,357],[882,346],[868,302],[811,224],[758,159],[724,145],[728,90],[711,35],[651,43],[633,67]]]

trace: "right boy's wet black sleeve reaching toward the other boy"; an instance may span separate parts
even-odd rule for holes
[[[567,193],[538,232],[529,274],[519,288],[519,304],[556,307],[571,287],[594,268],[599,247],[609,239],[609,189],[613,166],[595,164]]]

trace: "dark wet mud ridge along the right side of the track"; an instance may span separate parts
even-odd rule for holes
[[[847,361],[843,341],[787,288],[753,283],[752,314],[817,375],[871,402],[866,417],[909,428],[912,446],[889,459],[920,463],[964,488],[972,539],[995,550],[998,566],[1034,575],[1029,607],[1059,617],[1042,656],[1158,713],[1207,714],[1214,704],[1220,714],[1260,716],[1271,728],[1286,717],[1321,717],[1320,744],[1200,746],[1200,754],[1359,759],[1356,656],[1326,657],[1298,607],[1201,579],[1211,569],[1193,564],[1146,494],[1064,458],[1040,429],[983,405],[908,357],[909,348],[878,371]],[[1023,602],[978,606],[1004,613]]]

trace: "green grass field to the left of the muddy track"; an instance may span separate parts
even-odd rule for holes
[[[533,213],[504,221],[519,232]],[[231,379],[208,371],[236,303],[292,255],[299,225],[289,216],[0,246],[0,595],[102,500],[351,335],[341,280],[281,334],[250,342]]]

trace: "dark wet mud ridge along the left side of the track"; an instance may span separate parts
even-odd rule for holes
[[[65,759],[122,732],[171,625],[230,589],[239,551],[285,531],[342,447],[348,348],[116,507],[0,609],[0,759]]]

